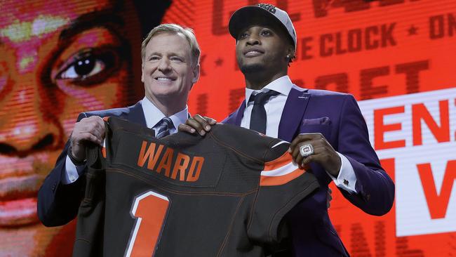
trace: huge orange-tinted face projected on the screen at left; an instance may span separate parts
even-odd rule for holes
[[[36,195],[79,112],[142,97],[141,29],[130,1],[1,1],[1,256],[71,251],[45,228]]]

